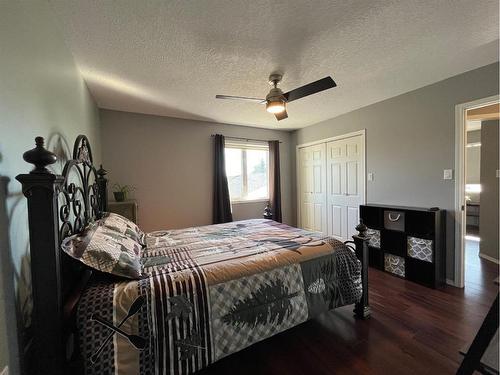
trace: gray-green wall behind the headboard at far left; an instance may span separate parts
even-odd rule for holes
[[[16,320],[29,323],[30,311],[26,199],[14,179],[31,169],[22,154],[37,135],[67,148],[83,133],[100,159],[99,113],[56,24],[46,1],[0,1],[0,175],[10,178],[0,196],[0,370],[8,363],[11,374],[19,373]]]

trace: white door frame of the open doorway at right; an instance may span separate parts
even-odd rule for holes
[[[493,95],[487,98],[474,100],[467,103],[457,104],[455,106],[455,280],[453,285],[459,288],[465,286],[465,171],[467,159],[465,157],[465,112],[470,109],[485,107],[490,104],[496,104],[500,101],[500,95]]]

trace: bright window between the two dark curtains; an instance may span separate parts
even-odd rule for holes
[[[226,140],[225,157],[231,202],[269,199],[267,143]]]

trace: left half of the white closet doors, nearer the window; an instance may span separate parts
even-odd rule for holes
[[[299,225],[326,233],[326,144],[299,149],[298,163]]]

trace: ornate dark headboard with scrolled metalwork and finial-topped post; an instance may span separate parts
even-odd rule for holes
[[[72,159],[61,175],[47,168],[57,157],[45,149],[44,139],[37,137],[35,143],[36,147],[23,155],[35,168],[16,177],[28,199],[32,368],[39,374],[64,374],[75,306],[91,272],[63,254],[60,245],[106,210],[106,171],[93,165],[92,149],[84,135],[76,138]]]

